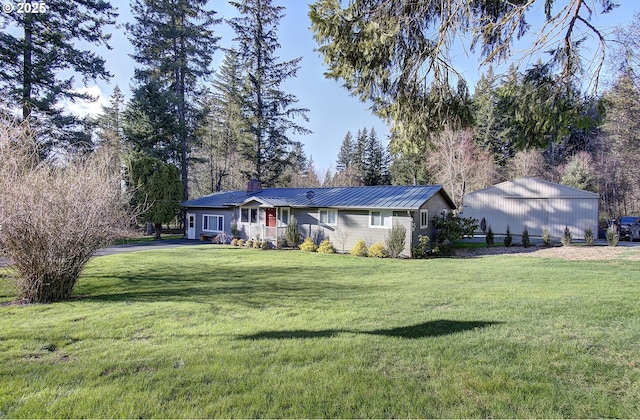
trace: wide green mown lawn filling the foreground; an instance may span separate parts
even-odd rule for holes
[[[75,300],[0,307],[0,417],[637,418],[639,286],[627,259],[100,257]]]

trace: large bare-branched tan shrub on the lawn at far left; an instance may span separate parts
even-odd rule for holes
[[[21,298],[66,300],[94,252],[130,225],[107,156],[41,161],[28,127],[0,128],[0,245]]]

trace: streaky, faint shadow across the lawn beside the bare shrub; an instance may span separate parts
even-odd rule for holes
[[[361,273],[353,268],[353,277]],[[341,274],[345,274],[342,270]],[[293,300],[313,303],[319,300],[343,300],[371,290],[371,285],[333,281],[336,270],[314,267],[289,272],[277,266],[225,267],[215,271],[189,271],[177,264],[164,266],[162,273],[134,270],[120,274],[92,273],[93,284],[81,289],[84,300],[107,302],[193,301],[218,304],[235,302],[262,308],[275,302]],[[102,281],[102,280],[105,281]]]

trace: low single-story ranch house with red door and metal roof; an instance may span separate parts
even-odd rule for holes
[[[349,250],[360,239],[384,243],[400,224],[407,230],[407,256],[419,235],[434,237],[433,216],[455,209],[441,185],[262,189],[258,181],[246,191],[217,192],[181,206],[188,239],[231,237],[233,226],[234,236],[275,244],[295,216],[302,236],[329,238],[336,249]]]

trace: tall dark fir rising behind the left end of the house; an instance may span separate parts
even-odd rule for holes
[[[138,86],[156,83],[168,94],[176,120],[177,164],[183,199],[189,197],[189,156],[200,114],[193,106],[198,83],[211,74],[211,59],[218,37],[213,27],[216,12],[207,10],[207,0],[133,0],[135,23],[128,24],[129,40]]]

